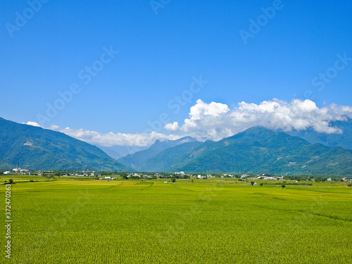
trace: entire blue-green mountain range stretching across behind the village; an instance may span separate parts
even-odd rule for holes
[[[341,125],[341,124],[337,124]],[[115,161],[96,146],[61,132],[0,118],[0,168],[36,170],[113,170],[145,172],[234,172],[282,175],[351,175],[351,125],[343,134],[285,132],[251,127],[218,142],[191,137],[157,140],[149,149]]]

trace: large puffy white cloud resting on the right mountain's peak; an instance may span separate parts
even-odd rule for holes
[[[318,108],[310,100],[294,99],[287,103],[273,99],[259,104],[243,101],[230,110],[226,104],[204,103],[199,99],[191,107],[189,118],[184,120],[183,125],[173,122],[166,124],[164,128],[168,131],[181,131],[198,139],[216,141],[257,125],[284,131],[312,128],[316,132],[327,134],[341,133],[330,122],[348,118],[352,118],[350,106],[332,104]]]

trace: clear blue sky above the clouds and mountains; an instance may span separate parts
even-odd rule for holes
[[[229,109],[272,99],[351,106],[351,13],[351,1],[1,1],[0,116],[187,134],[153,128],[181,127],[198,99]],[[72,85],[63,105],[58,92]]]

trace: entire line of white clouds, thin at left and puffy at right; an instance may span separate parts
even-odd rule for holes
[[[201,99],[191,106],[189,118],[182,125],[179,122],[170,122],[164,126],[168,132],[174,134],[151,133],[106,133],[90,130],[73,130],[70,127],[62,129],[57,125],[51,125],[50,130],[63,132],[70,137],[80,139],[89,144],[101,146],[150,146],[157,139],[175,140],[184,136],[195,137],[199,140],[220,140],[230,137],[249,127],[261,125],[270,129],[290,130],[313,130],[322,133],[341,133],[338,127],[332,127],[330,122],[334,120],[347,120],[352,118],[352,107],[337,106],[332,104],[318,108],[313,101],[301,101],[294,99],[290,103],[272,99],[256,103],[238,103],[238,106],[230,109],[224,103],[204,103]],[[27,122],[27,125],[40,127],[37,122]]]

